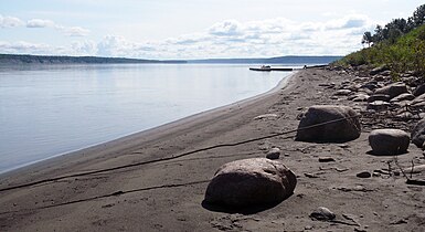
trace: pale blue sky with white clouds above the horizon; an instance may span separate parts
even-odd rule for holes
[[[155,60],[346,55],[423,0],[0,0],[0,53]]]

